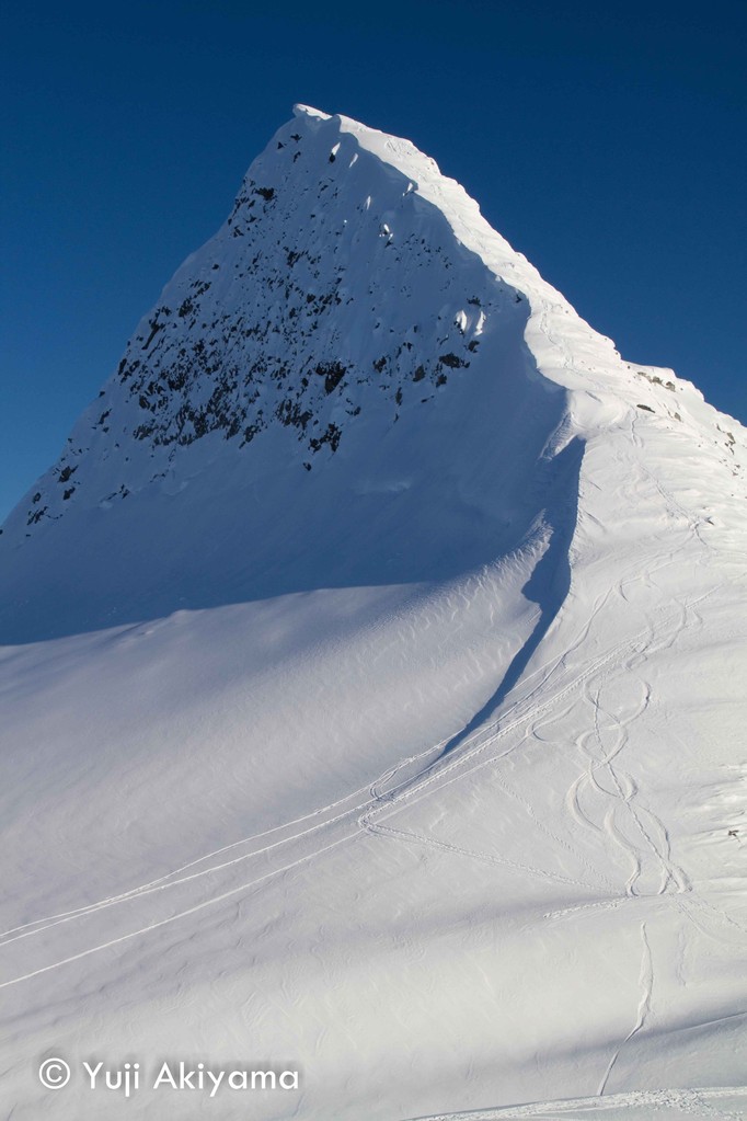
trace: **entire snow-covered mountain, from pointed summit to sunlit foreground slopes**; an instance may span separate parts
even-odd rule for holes
[[[744,430],[306,108],[102,393],[0,538],[7,1115],[738,1117]]]

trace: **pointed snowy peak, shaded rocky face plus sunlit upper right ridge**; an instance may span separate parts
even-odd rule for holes
[[[496,541],[523,539],[548,501],[548,464],[576,436],[588,442],[636,413],[655,417],[675,442],[704,429],[736,466],[734,426],[671,371],[623,362],[430,157],[297,105],[251,165],[224,224],[142,318],[60,458],[10,516],[0,560],[4,554],[19,569],[24,604],[10,614],[41,610],[21,594],[30,559],[13,559],[19,547],[38,539],[45,556],[67,556],[75,583],[81,543],[97,541],[116,565],[125,527],[130,612],[146,586],[162,586],[165,553],[179,555],[183,575],[194,569],[180,600],[194,602],[195,581],[196,602],[208,583],[211,602],[215,587],[255,592],[251,564],[225,591],[218,573],[234,562],[216,543],[236,532],[235,512],[254,502],[250,495],[272,489],[297,535],[316,510],[309,532],[327,543],[354,531],[339,519],[321,531],[319,511],[330,501],[398,494],[428,528],[412,563],[394,571],[408,580],[460,571],[492,556]],[[301,513],[289,495],[302,495]],[[273,517],[262,509],[244,526],[253,554],[259,527]],[[392,509],[382,501],[368,516],[372,534],[379,517],[381,531],[396,521]],[[449,516],[470,524],[458,544]],[[351,508],[351,526],[357,517]],[[335,575],[339,550],[323,555],[319,540],[325,581],[349,578],[342,568]],[[305,548],[283,587],[304,586],[315,569]],[[374,583],[392,575],[374,560],[363,568]],[[94,582],[103,603],[111,593],[101,573]],[[102,619],[93,599],[88,589],[86,626]],[[151,602],[174,608],[172,596]],[[111,611],[121,606],[108,606],[106,618]]]

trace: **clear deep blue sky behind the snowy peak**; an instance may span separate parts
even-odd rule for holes
[[[0,518],[296,101],[405,136],[622,353],[747,421],[747,4],[8,6]]]

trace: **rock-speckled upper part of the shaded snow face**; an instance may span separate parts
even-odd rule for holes
[[[311,471],[371,414],[389,426],[449,381],[479,377],[526,305],[398,165],[340,121],[299,110],[138,326],[34,489],[28,529],[188,475],[198,460],[179,453],[211,435],[234,450],[284,427],[287,455]],[[432,161],[427,172],[438,177]]]

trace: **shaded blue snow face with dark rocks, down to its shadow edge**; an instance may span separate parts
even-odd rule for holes
[[[566,397],[464,209],[412,146],[298,110],[8,520],[6,637],[448,578],[520,546]]]

